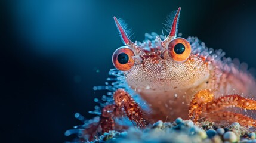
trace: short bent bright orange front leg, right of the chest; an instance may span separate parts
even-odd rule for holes
[[[209,89],[203,89],[199,91],[190,102],[189,119],[193,119],[193,122],[197,122],[204,108],[203,106],[208,102],[211,102],[213,98],[214,95]]]

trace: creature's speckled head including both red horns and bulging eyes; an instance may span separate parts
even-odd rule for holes
[[[180,8],[174,17],[169,35],[163,41],[160,36],[152,33],[146,34],[146,40],[142,43],[131,42],[115,18],[121,38],[134,53],[128,54],[129,58],[125,64],[129,64],[130,69],[124,71],[131,88],[139,92],[187,89],[198,86],[209,77],[209,70],[203,58],[190,54],[190,43],[186,39],[176,38],[179,15]],[[128,63],[131,58],[132,63]],[[118,58],[113,61],[118,62]]]

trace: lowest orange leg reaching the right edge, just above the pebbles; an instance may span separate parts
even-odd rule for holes
[[[226,112],[215,112],[214,114],[208,114],[208,120],[225,120],[227,122],[239,122],[242,126],[255,126],[256,122],[254,119],[244,116],[243,114]]]

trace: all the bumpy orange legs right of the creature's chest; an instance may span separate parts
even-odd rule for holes
[[[197,122],[202,111],[206,111],[208,120],[226,120],[228,122],[239,122],[245,126],[256,126],[256,121],[250,117],[229,111],[221,111],[227,107],[256,110],[256,101],[240,95],[226,95],[214,99],[212,92],[209,89],[204,89],[199,91],[190,102],[189,119],[193,118],[193,122]]]

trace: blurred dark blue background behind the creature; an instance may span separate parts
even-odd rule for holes
[[[1,142],[64,142],[64,132],[88,119],[104,91],[112,54],[122,46],[113,16],[135,38],[162,33],[166,16],[181,7],[179,32],[256,67],[253,1],[0,2]],[[167,35],[168,33],[165,32]]]

